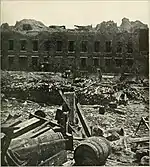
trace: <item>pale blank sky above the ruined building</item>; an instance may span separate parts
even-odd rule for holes
[[[118,25],[123,17],[150,25],[149,1],[4,1],[1,0],[1,23],[14,25],[24,18],[35,19],[49,26],[75,24],[95,26],[113,20]]]

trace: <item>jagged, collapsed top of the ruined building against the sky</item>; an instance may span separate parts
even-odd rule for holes
[[[142,22],[129,21],[127,18],[122,19],[122,23],[120,26],[117,26],[117,23],[114,21],[103,21],[100,24],[97,24],[96,27],[92,27],[92,25],[75,25],[75,29],[66,29],[64,25],[51,25],[45,26],[42,22],[34,20],[34,19],[23,19],[21,21],[17,21],[14,26],[9,26],[8,23],[3,23],[0,27],[1,31],[14,31],[24,35],[37,35],[40,32],[101,32],[101,33],[120,33],[120,32],[129,32],[132,33],[137,29],[148,29],[147,24],[143,24]]]

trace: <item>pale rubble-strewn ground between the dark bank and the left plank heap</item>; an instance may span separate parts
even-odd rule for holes
[[[28,118],[30,113],[34,113],[37,110],[44,110],[47,118],[53,120],[58,107],[58,105],[49,106],[16,98],[5,99],[1,102],[1,122],[5,122],[9,115],[14,119],[18,119],[18,117],[21,116],[21,121],[23,121]]]

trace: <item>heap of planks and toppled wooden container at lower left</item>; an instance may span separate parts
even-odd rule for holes
[[[38,111],[24,122],[2,125],[2,166],[58,166],[67,161],[62,127],[38,113],[44,116]]]

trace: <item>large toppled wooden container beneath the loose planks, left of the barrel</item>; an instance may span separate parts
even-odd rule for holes
[[[61,165],[67,161],[66,139],[52,129],[35,138],[15,138],[10,143],[5,161],[8,166],[42,166],[52,165],[52,162]]]

